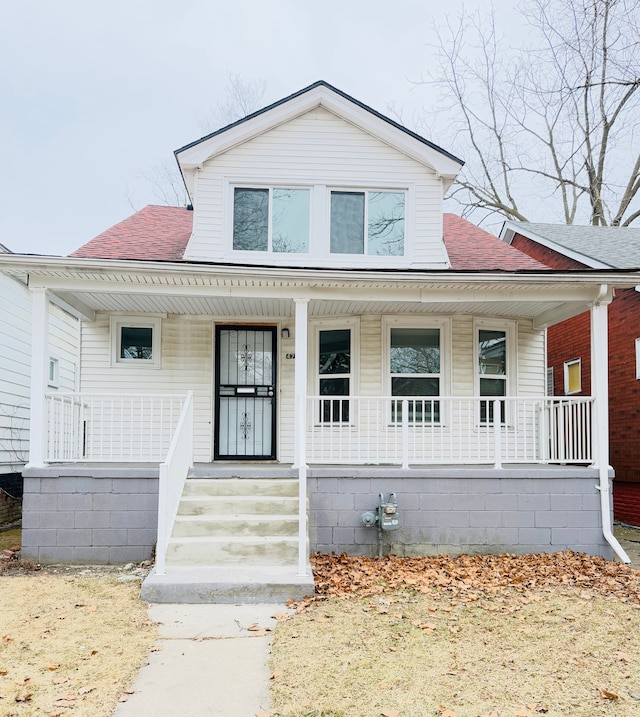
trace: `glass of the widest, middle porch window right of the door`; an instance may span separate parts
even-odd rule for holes
[[[391,328],[389,366],[392,396],[420,396],[409,400],[409,421],[440,420],[440,329]],[[393,401],[391,420],[402,421],[402,400]]]

